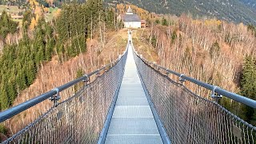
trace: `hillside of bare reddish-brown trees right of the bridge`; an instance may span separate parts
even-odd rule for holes
[[[167,23],[167,26],[158,24],[134,32],[134,46],[139,54],[180,74],[256,99],[254,26],[216,19],[202,21],[186,15],[176,20],[167,19]],[[137,42],[147,43],[153,48],[142,49]],[[171,78],[178,80],[175,76]],[[186,82],[186,86],[196,94],[210,98],[209,90],[191,82]],[[221,104],[247,122],[256,124],[255,110],[228,98],[222,98]]]

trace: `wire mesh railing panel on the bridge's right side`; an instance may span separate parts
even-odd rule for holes
[[[255,126],[231,114],[218,102],[194,94],[182,82],[174,82],[168,77],[168,70],[147,62],[136,52],[134,59],[172,143],[256,143]],[[180,80],[185,80],[182,79],[186,78],[185,75],[179,75]],[[201,84],[204,86],[203,82]],[[212,87],[214,90],[217,88]],[[217,92],[214,90],[213,93]],[[222,90],[219,88],[218,91]],[[236,95],[230,94],[230,97]],[[254,102],[249,100],[248,105]]]

